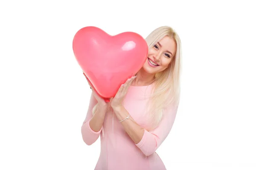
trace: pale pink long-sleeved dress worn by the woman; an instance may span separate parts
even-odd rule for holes
[[[145,129],[148,127],[145,111],[151,88],[152,85],[130,86],[123,102],[132,118]],[[166,108],[158,127],[150,131],[144,130],[142,140],[135,144],[113,111],[106,113],[99,132],[94,132],[90,128],[89,121],[93,116],[92,109],[96,102],[91,95],[87,116],[81,126],[82,138],[86,144],[93,144],[100,136],[101,152],[94,170],[166,170],[155,151],[171,130],[177,107]]]

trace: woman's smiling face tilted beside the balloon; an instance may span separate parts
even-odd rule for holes
[[[176,43],[169,36],[163,37],[157,44],[148,50],[148,59],[143,69],[148,74],[156,74],[165,70],[175,55]]]

